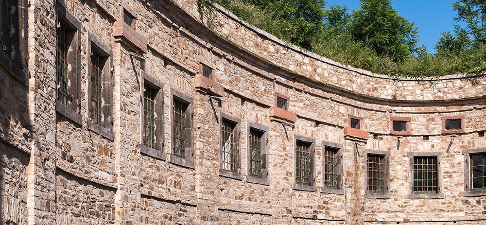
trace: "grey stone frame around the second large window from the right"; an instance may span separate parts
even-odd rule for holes
[[[444,192],[442,190],[442,156],[443,152],[408,152],[409,159],[409,174],[408,174],[408,199],[437,199],[444,198]],[[414,194],[414,157],[437,157],[437,193],[435,194]]]

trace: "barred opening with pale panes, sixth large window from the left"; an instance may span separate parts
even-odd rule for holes
[[[221,132],[221,168],[224,171],[236,172],[237,141],[235,140],[236,124],[223,120]]]

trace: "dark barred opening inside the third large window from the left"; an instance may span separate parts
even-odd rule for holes
[[[106,63],[107,57],[98,54],[95,51],[91,52],[91,107],[90,118],[91,120],[102,125],[103,115],[103,69]]]

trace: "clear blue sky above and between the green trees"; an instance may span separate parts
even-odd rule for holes
[[[419,29],[419,44],[427,46],[427,51],[434,53],[435,42],[444,31],[453,31],[456,13],[451,3],[456,0],[392,0],[400,16],[410,19]],[[330,5],[347,5],[348,10],[359,9],[359,0],[326,0]]]

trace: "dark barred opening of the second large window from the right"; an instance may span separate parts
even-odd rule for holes
[[[414,194],[436,194],[438,189],[437,156],[415,156]]]

